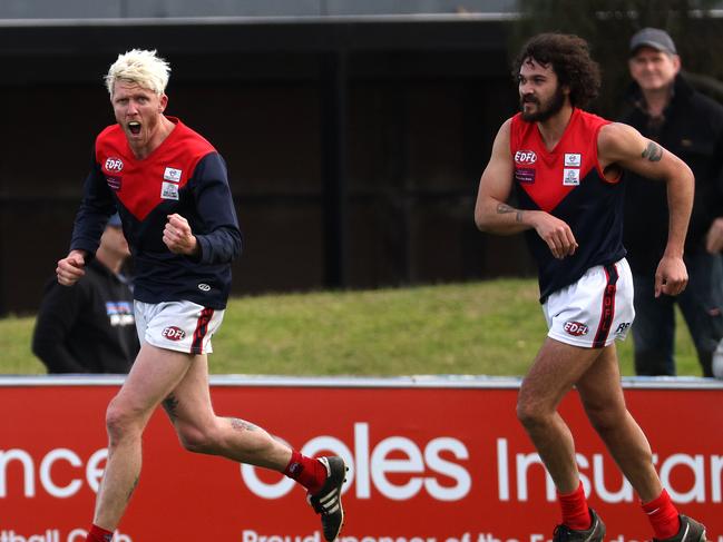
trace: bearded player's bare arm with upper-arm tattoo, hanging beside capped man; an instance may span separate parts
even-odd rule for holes
[[[677,156],[626,125],[604,126],[597,145],[604,170],[614,167],[629,169],[667,185],[668,236],[665,253],[655,274],[655,296],[680,294],[687,284],[683,249],[695,186],[691,168]],[[644,209],[641,209],[641,213],[644,213]]]

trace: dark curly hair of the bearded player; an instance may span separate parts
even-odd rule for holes
[[[512,62],[512,78],[519,78],[519,70],[527,59],[537,63],[551,65],[560,85],[570,89],[570,104],[585,107],[597,98],[600,89],[600,68],[590,58],[587,41],[567,33],[540,33],[533,37]]]

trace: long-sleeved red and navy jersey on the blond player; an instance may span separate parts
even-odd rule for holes
[[[134,256],[134,297],[145,303],[190,300],[225,308],[231,262],[241,230],[221,155],[180,120],[148,157],[137,159],[119,125],[96,139],[70,248],[95,254],[116,209]],[[188,220],[201,256],[174,254],[163,242],[167,216]]]

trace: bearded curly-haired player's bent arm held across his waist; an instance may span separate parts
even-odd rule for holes
[[[510,235],[535,228],[553,256],[564,258],[575,254],[577,242],[569,226],[541,210],[522,210],[506,201],[512,189],[515,164],[509,150],[511,120],[497,132],[492,155],[482,173],[475,206],[475,223],[482,231]]]

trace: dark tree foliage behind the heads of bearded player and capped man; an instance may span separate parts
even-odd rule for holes
[[[723,20],[712,17],[716,0],[519,0],[520,19],[512,32],[511,55],[539,32],[575,33],[590,43],[603,70],[600,97],[592,109],[608,117],[621,111],[629,85],[631,37],[645,27],[666,30],[675,41],[683,69],[703,91],[723,99]]]

